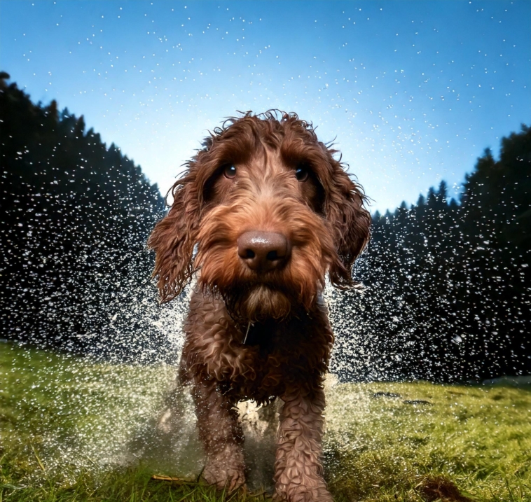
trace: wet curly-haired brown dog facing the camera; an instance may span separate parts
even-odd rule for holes
[[[179,375],[193,387],[202,476],[220,489],[245,483],[235,405],[280,398],[275,498],[332,500],[320,459],[334,340],[322,292],[327,274],[354,284],[371,223],[336,153],[295,113],[229,118],[186,163],[149,237],[162,302],[196,278]]]

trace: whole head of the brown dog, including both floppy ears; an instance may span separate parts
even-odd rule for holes
[[[149,237],[163,302],[198,282],[249,321],[310,309],[329,273],[352,284],[371,217],[361,187],[294,113],[246,113],[205,139]],[[198,252],[193,257],[193,249]]]

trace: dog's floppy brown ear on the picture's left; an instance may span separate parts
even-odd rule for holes
[[[153,277],[162,302],[175,298],[193,274],[193,246],[198,235],[202,195],[196,180],[194,162],[172,187],[172,207],[159,221],[148,239],[156,253]]]

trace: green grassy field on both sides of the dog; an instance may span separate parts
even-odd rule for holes
[[[195,482],[202,454],[174,371],[0,344],[0,502],[270,500]],[[336,501],[531,502],[529,384],[336,384],[327,398]]]

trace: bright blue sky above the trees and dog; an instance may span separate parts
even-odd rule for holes
[[[336,138],[372,209],[458,190],[531,123],[531,1],[0,0],[0,69],[163,193],[237,110]]]

